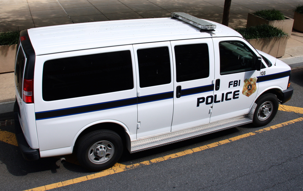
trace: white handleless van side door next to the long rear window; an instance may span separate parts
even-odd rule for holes
[[[137,73],[137,139],[170,132],[174,107],[170,42],[133,47]]]

